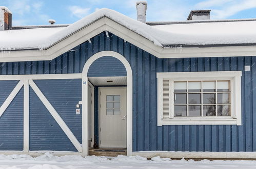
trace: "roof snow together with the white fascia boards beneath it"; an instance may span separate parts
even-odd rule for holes
[[[51,60],[105,30],[160,58],[253,56],[254,45],[182,48],[179,44],[256,44],[255,28],[255,20],[149,26],[101,9],[65,28],[0,31],[0,61]]]

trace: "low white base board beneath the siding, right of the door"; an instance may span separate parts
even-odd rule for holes
[[[152,158],[200,158],[200,159],[256,159],[256,152],[168,152],[168,151],[141,151],[132,152],[133,156]]]

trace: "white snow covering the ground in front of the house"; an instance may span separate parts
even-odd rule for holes
[[[0,169],[61,169],[61,168],[256,168],[256,161],[223,161],[223,160],[171,160],[154,157],[147,160],[140,156],[96,157],[61,156],[45,153],[39,157],[29,155],[0,155]]]

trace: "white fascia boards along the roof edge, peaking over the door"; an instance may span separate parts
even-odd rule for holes
[[[0,62],[10,61],[35,61],[52,60],[57,56],[71,50],[89,40],[90,38],[108,31],[125,41],[147,51],[159,58],[180,58],[180,57],[233,57],[233,56],[256,56],[256,46],[226,46],[226,47],[185,47],[185,48],[163,48],[154,45],[147,38],[129,30],[128,28],[114,22],[108,17],[102,17],[94,23],[74,32],[45,50],[21,50],[1,51]]]

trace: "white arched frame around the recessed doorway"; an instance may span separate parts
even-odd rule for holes
[[[82,140],[83,140],[83,156],[88,155],[88,70],[96,59],[104,56],[112,56],[119,59],[125,66],[127,73],[127,155],[132,155],[132,69],[126,58],[113,51],[102,51],[91,56],[85,63],[82,72]]]

